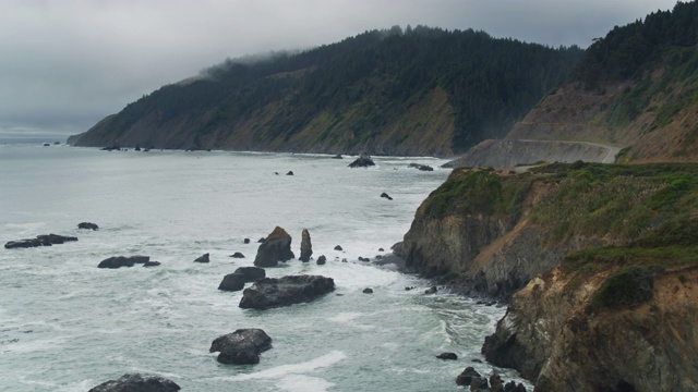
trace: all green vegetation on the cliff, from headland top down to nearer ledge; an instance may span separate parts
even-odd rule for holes
[[[589,310],[631,307],[651,298],[665,268],[698,265],[698,164],[552,164],[535,170],[552,183],[531,212],[550,243],[606,238],[611,246],[568,255],[571,286],[606,273]]]

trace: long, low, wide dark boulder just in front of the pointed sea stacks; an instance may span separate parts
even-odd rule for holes
[[[335,281],[321,275],[264,278],[242,292],[240,307],[268,309],[311,302],[335,291]]]

